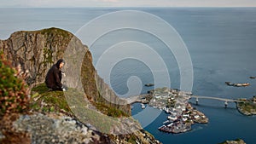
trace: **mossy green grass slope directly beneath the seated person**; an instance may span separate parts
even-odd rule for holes
[[[32,111],[61,112],[79,118],[84,124],[92,124],[104,133],[109,133],[114,126],[120,125],[118,118],[109,117],[97,109],[116,116],[122,115],[122,111],[100,103],[96,108],[76,89],[49,91],[45,84],[39,84],[32,89],[32,95]]]

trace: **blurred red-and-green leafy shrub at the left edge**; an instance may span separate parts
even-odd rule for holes
[[[28,89],[20,69],[11,66],[0,52],[0,116],[29,109]]]

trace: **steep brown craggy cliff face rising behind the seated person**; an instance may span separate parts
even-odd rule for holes
[[[81,67],[72,65],[78,63],[79,49],[83,49],[84,56],[80,62]],[[73,55],[76,59],[67,61],[67,78],[65,82],[68,86],[84,89],[87,99],[93,104],[102,102],[109,107],[115,107],[123,112],[131,114],[130,105],[126,101],[120,100],[108,84],[105,84],[97,74],[92,65],[92,58],[89,49],[72,33],[58,28],[49,28],[33,32],[15,32],[9,39],[0,40],[0,50],[9,60],[14,61],[13,65],[20,64],[22,69],[28,70],[30,76],[26,83],[31,87],[35,84],[44,83],[46,72],[60,58],[66,55]],[[68,64],[69,63],[69,64]],[[73,70],[81,70],[78,75]],[[74,81],[75,80],[75,81]],[[82,85],[79,85],[81,83]],[[113,101],[107,101],[104,97],[109,97]]]

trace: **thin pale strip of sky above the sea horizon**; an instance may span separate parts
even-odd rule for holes
[[[256,0],[0,0],[9,7],[256,7]]]

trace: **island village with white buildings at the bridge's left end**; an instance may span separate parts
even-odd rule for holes
[[[177,134],[191,130],[192,124],[208,123],[208,118],[204,113],[195,110],[189,104],[190,95],[192,93],[165,87],[148,91],[148,95],[141,102],[168,113],[167,120],[159,127],[159,130]],[[143,104],[142,108],[144,108]]]

